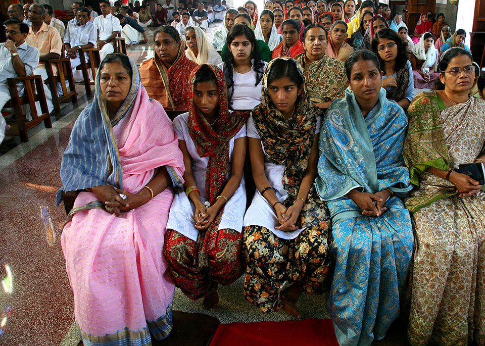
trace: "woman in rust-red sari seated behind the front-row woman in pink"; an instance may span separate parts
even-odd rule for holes
[[[185,56],[185,41],[171,25],[153,34],[155,56],[140,65],[141,83],[166,110],[188,109],[190,72],[197,63]]]

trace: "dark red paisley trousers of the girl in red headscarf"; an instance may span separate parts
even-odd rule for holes
[[[242,234],[233,229],[200,231],[197,241],[167,229],[163,254],[175,285],[196,301],[229,285],[243,273]]]

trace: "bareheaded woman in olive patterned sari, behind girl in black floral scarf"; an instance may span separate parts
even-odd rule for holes
[[[305,52],[295,57],[307,76],[308,96],[318,108],[328,108],[344,96],[347,87],[344,63],[325,54],[327,32],[320,24],[310,24],[303,31]]]

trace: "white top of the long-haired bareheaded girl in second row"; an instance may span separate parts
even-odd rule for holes
[[[222,71],[224,71],[224,64],[217,65]],[[267,62],[264,62],[262,71],[268,66]],[[262,79],[256,84],[256,73],[254,72],[254,64],[251,71],[244,74],[233,71],[232,80],[234,81],[233,93],[231,97],[233,110],[250,110],[255,108],[261,103],[261,87]],[[230,93],[230,91],[228,91]]]

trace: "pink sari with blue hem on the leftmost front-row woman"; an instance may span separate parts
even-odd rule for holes
[[[139,78],[137,71],[133,75]],[[133,105],[112,127],[123,189],[131,193],[146,186],[160,167],[166,166],[179,181],[184,170],[177,136],[162,105],[150,101],[141,85],[135,92]],[[61,243],[84,344],[145,344],[150,332],[157,339],[170,333],[174,283],[162,249],[172,199],[168,187],[123,217],[104,209],[81,209],[66,223]],[[74,208],[96,200],[94,193],[80,192]]]

